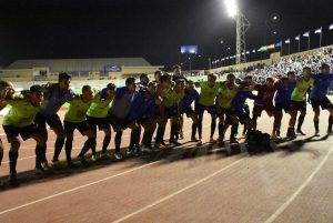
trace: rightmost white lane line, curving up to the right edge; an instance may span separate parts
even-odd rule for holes
[[[325,158],[322,160],[322,162],[316,166],[316,169],[310,174],[310,176],[302,183],[302,185],[290,196],[290,199],[283,203],[266,221],[265,223],[274,222],[282,212],[297,197],[297,195],[303,191],[303,189],[312,181],[314,175],[322,169],[322,166],[326,163],[329,160],[329,156],[333,152],[333,145],[330,148],[330,151],[325,155]]]

